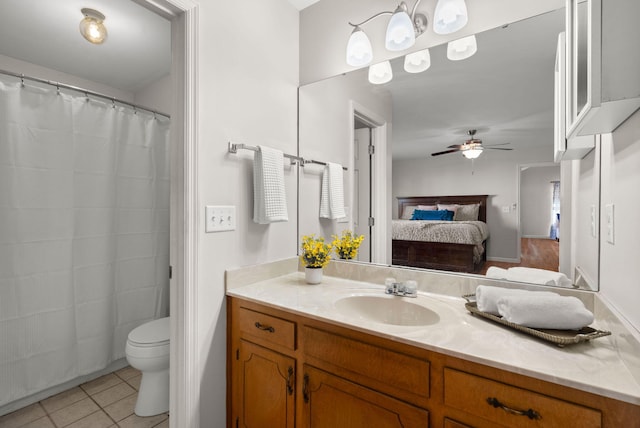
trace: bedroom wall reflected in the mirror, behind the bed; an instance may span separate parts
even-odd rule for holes
[[[489,195],[487,257],[518,260],[519,164],[549,162],[550,147],[518,148],[513,151],[486,150],[473,161],[459,153],[393,162],[393,216],[397,218],[397,197],[440,195]],[[502,211],[509,207],[509,212]]]

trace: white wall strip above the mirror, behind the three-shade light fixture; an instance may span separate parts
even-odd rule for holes
[[[466,0],[471,19],[461,31],[447,36],[435,34],[431,27],[437,0],[423,0],[418,12],[425,13],[429,26],[416,40],[410,51],[441,45],[449,40],[499,27],[524,18],[564,7],[564,0]],[[414,2],[407,2],[413,7]],[[315,82],[330,76],[354,70],[345,62],[345,49],[353,30],[348,23],[359,23],[370,16],[391,11],[397,5],[389,0],[322,0],[304,9],[300,14],[300,81]],[[373,47],[374,62],[399,55],[386,51],[384,34],[388,17],[382,17],[363,26]]]

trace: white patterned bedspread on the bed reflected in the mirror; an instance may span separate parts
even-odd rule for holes
[[[473,258],[482,257],[482,242],[489,237],[483,221],[392,220],[392,239],[403,241],[473,244]]]

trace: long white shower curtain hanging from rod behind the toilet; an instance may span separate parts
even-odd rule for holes
[[[0,77],[0,406],[107,367],[168,314],[168,135]]]

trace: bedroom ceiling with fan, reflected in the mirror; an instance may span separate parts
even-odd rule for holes
[[[461,144],[477,129],[484,145],[526,148],[553,145],[553,87],[564,9],[476,36],[478,52],[463,61],[430,50],[420,74],[393,62],[393,157],[411,159]]]

